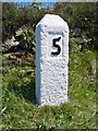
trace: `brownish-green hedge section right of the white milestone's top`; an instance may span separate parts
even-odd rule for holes
[[[96,44],[97,33],[97,4],[96,3],[57,3],[56,14],[61,15],[70,26],[71,32],[74,28],[81,28],[83,34],[90,43],[86,44],[89,49],[98,49]]]

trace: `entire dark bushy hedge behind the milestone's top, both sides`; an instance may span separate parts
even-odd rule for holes
[[[3,35],[2,40],[4,41],[8,37],[15,34],[15,31],[25,24],[29,24],[33,29],[35,25],[46,13],[54,13],[62,16],[70,26],[71,32],[74,28],[81,28],[82,34],[87,39],[86,47],[90,49],[98,49],[96,44],[97,34],[97,3],[62,3],[57,2],[54,9],[40,9],[41,3],[34,2],[29,7],[19,8],[14,3],[3,3]],[[49,7],[48,7],[49,8]]]

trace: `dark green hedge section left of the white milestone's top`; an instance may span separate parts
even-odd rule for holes
[[[15,31],[22,25],[30,25],[32,28],[38,23],[38,21],[44,16],[44,10],[38,9],[40,3],[32,4],[29,8],[20,8],[16,3],[3,2],[2,3],[2,40],[11,38],[15,35]]]

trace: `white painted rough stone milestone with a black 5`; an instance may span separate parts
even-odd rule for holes
[[[69,26],[54,14],[36,25],[36,103],[68,102]]]

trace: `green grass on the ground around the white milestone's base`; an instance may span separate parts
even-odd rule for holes
[[[32,57],[32,56],[30,56]],[[35,105],[35,68],[16,61],[3,66],[3,129],[96,129],[95,52],[70,52],[69,103]],[[3,61],[8,61],[4,59]]]

